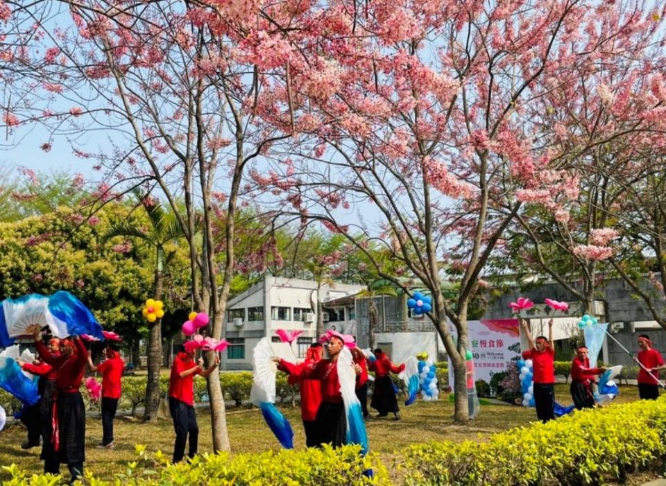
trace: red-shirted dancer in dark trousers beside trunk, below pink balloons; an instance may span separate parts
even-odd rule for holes
[[[173,444],[173,462],[180,462],[185,455],[185,442],[189,434],[189,451],[187,455],[193,458],[196,454],[199,427],[196,424],[194,412],[194,375],[208,376],[217,365],[220,358],[215,359],[206,370],[203,369],[203,359],[194,363],[194,351],[186,352],[180,347],[180,352],[171,365],[169,377],[169,412],[173,419],[173,428],[176,431],[176,442]]]

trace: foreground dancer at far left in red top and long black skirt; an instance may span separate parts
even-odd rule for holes
[[[54,356],[42,342],[42,332],[33,332],[35,347],[42,359],[56,370],[56,400],[53,407],[53,449],[56,459],[51,465],[55,474],[65,462],[72,482],[83,478],[85,462],[85,405],[78,391],[88,352],[78,337],[60,340],[60,356]],[[46,467],[46,464],[44,465]]]

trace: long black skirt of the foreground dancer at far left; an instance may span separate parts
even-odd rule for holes
[[[66,464],[85,462],[85,406],[80,392],[58,392],[58,460]]]

